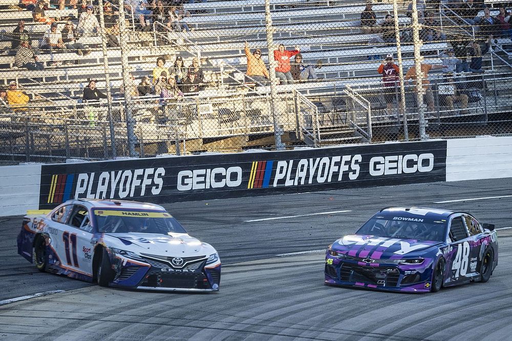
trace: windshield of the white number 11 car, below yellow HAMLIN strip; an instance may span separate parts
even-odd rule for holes
[[[100,233],[187,233],[173,216],[166,212],[94,210]]]

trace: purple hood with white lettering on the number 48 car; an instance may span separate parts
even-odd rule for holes
[[[417,256],[418,252],[442,244],[439,241],[349,235],[336,240],[331,248],[352,257],[370,259],[400,259]]]

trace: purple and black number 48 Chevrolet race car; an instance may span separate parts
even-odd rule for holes
[[[465,212],[386,208],[329,245],[325,262],[326,284],[436,292],[487,282],[498,265],[498,242],[493,224]]]

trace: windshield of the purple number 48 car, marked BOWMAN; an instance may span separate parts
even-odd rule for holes
[[[424,218],[374,217],[357,230],[360,235],[443,241],[446,222]]]

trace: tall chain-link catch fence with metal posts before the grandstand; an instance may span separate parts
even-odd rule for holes
[[[492,0],[0,0],[0,160],[506,135]]]

